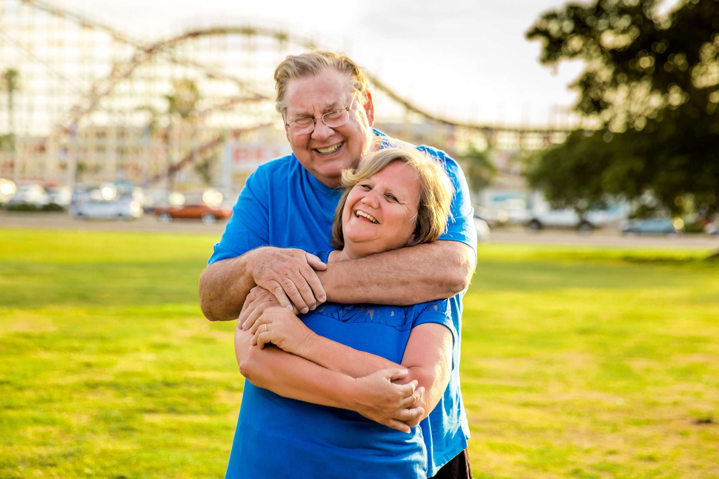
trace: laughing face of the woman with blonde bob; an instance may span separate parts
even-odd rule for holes
[[[342,210],[343,256],[359,258],[410,243],[419,194],[418,177],[404,162],[392,162],[354,185]]]

